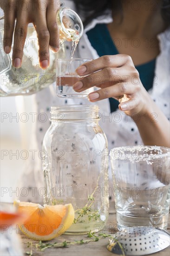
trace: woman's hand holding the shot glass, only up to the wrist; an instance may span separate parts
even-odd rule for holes
[[[105,55],[85,63],[76,71],[87,76],[73,85],[75,91],[81,92],[93,86],[101,88],[88,95],[90,101],[113,97],[120,102],[119,109],[127,115],[146,111],[149,95],[130,56]]]

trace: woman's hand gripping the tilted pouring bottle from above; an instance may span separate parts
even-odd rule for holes
[[[3,44],[6,54],[11,51],[14,32],[13,66],[19,68],[22,64],[28,23],[33,23],[39,41],[40,67],[48,67],[49,46],[55,52],[59,47],[59,28],[56,23],[59,0],[0,0],[0,7],[5,15]]]

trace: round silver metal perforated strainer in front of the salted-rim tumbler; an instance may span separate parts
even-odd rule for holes
[[[168,246],[170,246],[170,234],[165,230],[140,228],[137,232],[127,230],[127,232],[115,234],[107,245],[107,249],[118,255],[123,255],[123,249],[124,255],[140,256],[155,253]]]

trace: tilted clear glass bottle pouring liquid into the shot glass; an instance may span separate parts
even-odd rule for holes
[[[50,65],[46,70],[39,67],[39,46],[33,24],[29,24],[23,50],[22,66],[12,66],[12,50],[6,54],[3,49],[4,19],[0,19],[0,96],[33,94],[55,83],[55,60],[64,58],[64,41],[78,42],[83,34],[83,24],[72,9],[60,8],[56,14],[60,29],[60,50],[50,50]]]

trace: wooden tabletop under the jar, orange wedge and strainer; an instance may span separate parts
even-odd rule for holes
[[[114,209],[111,209],[109,214],[109,219],[107,224],[105,225],[105,230],[101,230],[99,233],[106,233],[106,234],[113,234],[116,232],[116,212]],[[168,232],[170,232],[170,218],[169,218],[169,225],[168,225]],[[98,233],[96,233],[98,234]],[[48,248],[45,251],[39,251],[36,249],[36,243],[38,241],[33,241],[32,239],[27,238],[24,234],[21,234],[21,239],[23,243],[23,252],[29,252],[30,247],[28,248],[28,243],[32,242],[32,250],[33,256],[113,256],[112,254],[106,249],[106,245],[109,241],[109,238],[102,238],[98,242],[90,242],[87,244],[76,244],[71,245],[65,248]],[[64,241],[74,242],[75,240],[81,239],[88,239],[87,235],[62,235],[56,239],[51,240],[51,243],[62,243]],[[50,243],[47,242],[47,243]],[[26,254],[25,254],[26,255]],[[170,256],[170,247],[159,251],[154,254],[150,254],[150,256]]]

